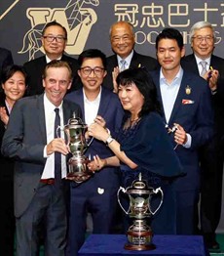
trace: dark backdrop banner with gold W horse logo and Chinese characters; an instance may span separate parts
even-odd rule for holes
[[[41,33],[49,21],[66,27],[66,53],[74,57],[89,48],[111,55],[109,28],[115,21],[133,24],[135,49],[141,54],[155,57],[155,38],[164,27],[182,32],[190,54],[190,27],[209,21],[217,36],[215,54],[224,57],[224,0],[4,0],[0,1],[0,46],[12,51],[17,64],[41,56]]]

